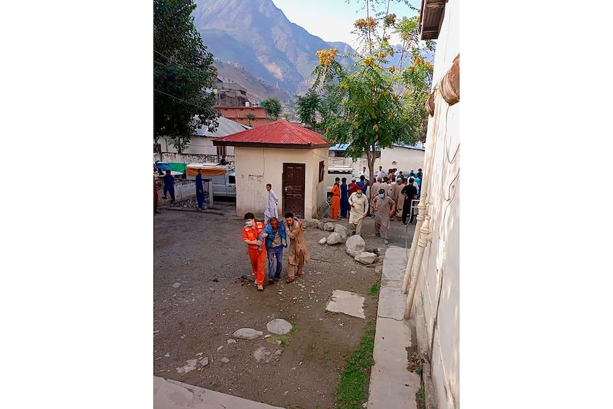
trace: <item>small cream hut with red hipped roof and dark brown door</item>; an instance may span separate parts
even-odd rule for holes
[[[320,134],[279,119],[213,141],[234,147],[236,213],[262,216],[268,206],[266,184],[279,197],[279,218],[292,212],[317,218],[326,208],[328,148]]]

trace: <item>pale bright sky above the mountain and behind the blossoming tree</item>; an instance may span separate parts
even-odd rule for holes
[[[274,5],[283,11],[285,16],[302,26],[314,36],[324,41],[343,41],[355,48],[355,36],[353,23],[360,18],[366,17],[366,11],[359,10],[361,2],[351,0],[272,0]],[[413,6],[419,7],[420,0],[411,0]],[[395,13],[399,18],[402,16],[415,16],[417,11],[409,9],[404,4],[392,4],[390,13]],[[392,38],[394,40],[394,38]],[[395,43],[396,41],[393,41]]]

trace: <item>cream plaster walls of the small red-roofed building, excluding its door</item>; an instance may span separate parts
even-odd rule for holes
[[[305,164],[305,217],[317,217],[317,209],[324,206],[326,201],[324,183],[319,184],[319,161],[323,160],[327,169],[327,157],[324,156],[326,153],[326,148],[311,150],[235,147],[237,215],[244,216],[245,213],[252,212],[256,217],[263,217],[268,205],[266,184],[272,184],[272,189],[279,197],[279,216],[282,216],[283,164],[295,163]]]

